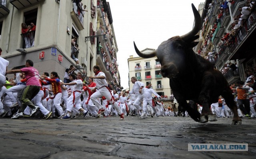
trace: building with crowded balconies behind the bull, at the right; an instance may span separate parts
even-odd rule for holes
[[[238,8],[247,6],[250,14],[241,17]],[[229,84],[246,81],[256,73],[256,11],[253,6],[250,0],[204,2],[202,29],[194,51],[220,70]]]

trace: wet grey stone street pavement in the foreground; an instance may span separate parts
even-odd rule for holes
[[[134,116],[71,120],[0,118],[0,159],[254,159],[256,119]],[[188,143],[248,143],[248,151],[188,151]]]

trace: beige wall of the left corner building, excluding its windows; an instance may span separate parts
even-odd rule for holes
[[[60,79],[63,79],[66,67],[76,64],[70,57],[72,29],[76,29],[76,33],[79,34],[77,39],[80,49],[79,64],[86,69],[87,76],[93,75],[92,68],[89,66],[90,57],[92,66],[96,64],[96,44],[91,44],[90,41],[85,42],[84,38],[89,36],[90,22],[93,24],[94,31],[97,27],[97,14],[95,18],[92,18],[90,14],[91,2],[97,8],[97,0],[82,0],[82,3],[87,6],[88,12],[84,14],[83,29],[79,29],[78,23],[71,16],[72,1],[61,0],[58,4],[55,0],[40,0],[26,7],[16,8],[10,3],[10,0],[7,0],[6,8],[10,10],[10,13],[0,18],[0,22],[2,22],[0,47],[3,50],[2,57],[10,61],[8,69],[22,66],[26,59],[31,59],[39,72],[56,71],[60,75]],[[24,13],[34,9],[37,10],[34,47],[25,48],[27,53],[22,54],[16,51],[21,48],[23,40],[21,24],[25,22]],[[68,28],[70,33],[67,31]],[[57,49],[56,56],[51,55],[51,48]],[[39,54],[42,51],[45,52],[45,57],[39,59]],[[58,55],[63,57],[63,61],[58,60]],[[78,69],[78,71],[82,72],[83,69]]]

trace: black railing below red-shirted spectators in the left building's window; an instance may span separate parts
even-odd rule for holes
[[[27,33],[20,34],[21,35],[21,47],[23,49],[34,46],[35,33],[36,33],[36,31],[29,31]]]

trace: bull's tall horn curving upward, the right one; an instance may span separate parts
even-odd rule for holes
[[[198,31],[200,30],[200,28],[202,26],[200,14],[196,10],[196,7],[194,6],[194,4],[192,3],[191,5],[192,5],[193,13],[194,13],[194,18],[195,18],[195,26],[189,33],[186,33],[185,35],[181,36],[182,40],[189,41],[189,42],[190,42],[191,38],[194,37],[194,35],[196,35],[198,33]],[[192,40],[192,41],[194,41],[194,40]]]

